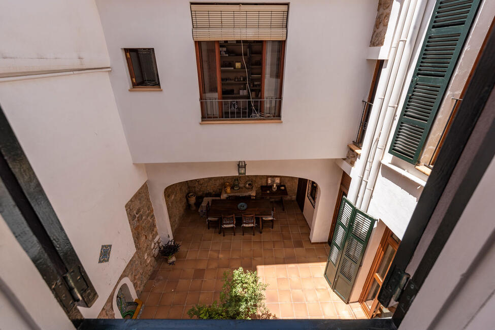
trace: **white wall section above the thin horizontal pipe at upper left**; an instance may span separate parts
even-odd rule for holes
[[[0,2],[0,77],[109,67],[94,0]]]

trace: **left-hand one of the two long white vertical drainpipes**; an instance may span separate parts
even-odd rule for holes
[[[388,54],[387,64],[386,67],[382,69],[378,81],[375,100],[372,101],[373,106],[371,107],[370,110],[371,114],[370,114],[370,118],[368,119],[368,128],[372,128],[372,129],[367,129],[365,133],[365,139],[362,142],[361,156],[359,157],[360,161],[358,161],[356,164],[357,166],[356,170],[358,174],[355,179],[351,180],[349,192],[347,194],[347,199],[349,199],[349,201],[351,201],[351,203],[354,204],[356,203],[357,192],[360,190],[362,185],[362,177],[365,174],[366,163],[368,161],[368,157],[371,154],[370,149],[372,148],[373,140],[375,140],[376,143],[376,139],[374,139],[374,136],[377,130],[378,117],[381,114],[380,110],[383,104],[383,98],[385,97],[385,91],[387,90],[387,85],[389,84],[391,67],[395,60],[397,45],[399,43],[402,30],[404,29],[404,23],[406,21],[406,16],[407,13],[410,11],[409,10],[410,8],[411,8],[410,0],[404,0],[404,2],[402,3],[402,9],[399,19],[397,21],[397,27],[395,28],[395,32],[393,35],[392,45],[390,47],[390,52]]]

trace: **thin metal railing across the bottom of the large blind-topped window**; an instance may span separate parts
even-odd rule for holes
[[[203,120],[280,119],[281,98],[200,100]]]

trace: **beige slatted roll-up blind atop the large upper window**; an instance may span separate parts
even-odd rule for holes
[[[285,40],[287,5],[191,5],[194,41]]]

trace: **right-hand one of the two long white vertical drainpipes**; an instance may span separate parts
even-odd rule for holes
[[[409,34],[407,34],[407,38],[401,38],[401,41],[404,40],[404,43],[402,44],[402,50],[401,50],[401,52],[403,52],[403,55],[402,55],[400,65],[398,68],[397,77],[394,79],[394,85],[393,85],[391,95],[390,95],[390,98],[388,101],[388,106],[386,109],[385,120],[383,122],[383,126],[382,126],[381,131],[380,131],[380,136],[378,139],[378,145],[377,145],[377,148],[375,151],[375,155],[373,157],[373,164],[372,164],[371,170],[368,174],[368,182],[366,184],[366,190],[365,190],[364,196],[362,197],[362,203],[360,205],[360,208],[362,210],[368,210],[368,206],[370,205],[371,194],[373,192],[376,178],[378,176],[378,170],[380,169],[380,161],[382,159],[382,156],[383,156],[383,153],[385,150],[385,146],[387,144],[387,140],[388,140],[388,136],[390,134],[390,129],[391,129],[393,117],[394,117],[395,111],[397,110],[399,98],[400,98],[401,92],[403,90],[403,86],[404,86],[404,82],[406,79],[408,66],[409,66],[409,63],[411,60],[414,44],[416,43],[416,40],[418,37],[418,32],[419,32],[419,27],[421,25],[421,21],[422,21],[424,11],[426,8],[426,2],[427,2],[427,0],[418,0],[416,9],[414,11],[412,28],[410,29]],[[404,37],[406,37],[406,35],[404,35]],[[405,41],[406,40],[409,41],[409,43],[407,43],[407,48],[405,48],[405,46],[406,46]]]

